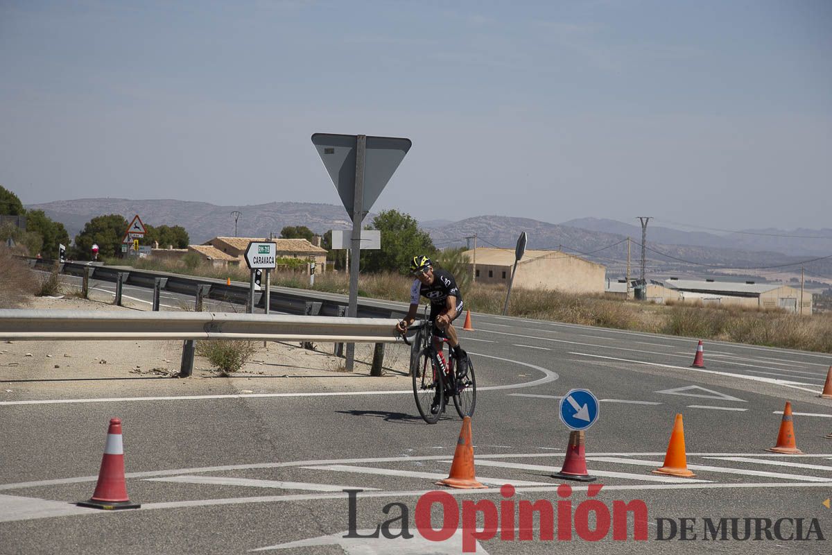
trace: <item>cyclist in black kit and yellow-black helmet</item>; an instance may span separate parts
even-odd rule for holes
[[[428,320],[433,322],[436,328],[433,332],[433,346],[441,352],[442,338],[448,339],[450,353],[456,360],[457,375],[468,374],[468,355],[459,344],[457,330],[452,324],[463,310],[463,296],[459,292],[456,280],[447,270],[433,270],[433,263],[425,255],[414,256],[410,261],[410,272],[416,276],[410,288],[410,310],[404,320],[396,325],[396,331],[404,334],[407,327],[413,324],[416,320],[419,297],[426,297],[430,300]]]

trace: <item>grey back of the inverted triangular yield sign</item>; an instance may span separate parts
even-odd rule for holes
[[[315,133],[312,144],[324,162],[329,177],[338,190],[341,202],[352,218],[355,195],[355,151],[354,135]],[[399,164],[404,160],[411,146],[410,139],[392,136],[367,136],[367,150],[364,159],[364,196],[361,203],[361,217],[369,212],[384,186],[390,181]]]

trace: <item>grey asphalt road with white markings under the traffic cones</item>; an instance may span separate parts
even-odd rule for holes
[[[125,295],[142,292],[126,288]],[[176,307],[181,296],[163,304]],[[362,381],[350,394],[254,396],[280,393],[272,380],[256,384],[254,394],[227,398],[221,396],[253,389],[252,382],[195,382],[183,396],[176,379],[155,379],[120,384],[119,398],[146,399],[118,400],[103,383],[67,394],[72,399],[44,393],[0,402],[0,553],[461,553],[463,521],[443,543],[417,530],[418,500],[433,489],[453,494],[463,516],[473,514],[469,502],[490,502],[476,506],[483,512],[498,508],[501,531],[481,539],[477,553],[830,553],[818,538],[832,535],[832,509],[822,504],[832,497],[832,439],[825,439],[832,399],[817,394],[832,356],[707,342],[706,369],[692,369],[696,339],[493,315],[473,315],[473,327],[463,346],[477,370],[474,460],[488,489],[433,485],[448,475],[460,420],[452,409],[438,424],[424,424],[409,389],[380,392]],[[617,501],[643,500],[646,541],[633,540],[632,516],[626,541],[614,540],[612,530],[587,541],[578,524],[571,540],[557,539],[569,528],[557,520],[564,499],[557,488],[565,482],[551,476],[568,439],[558,405],[573,388],[601,400],[600,417],[586,432],[587,467],[603,484],[592,498],[611,513]],[[775,444],[786,400],[805,455],[765,451]],[[684,415],[695,478],[651,473],[662,464],[676,414]],[[141,508],[78,508],[72,503],[95,488],[113,416],[124,422],[126,488]],[[516,493],[501,493],[503,483]],[[581,509],[587,484],[571,484],[571,497],[561,493],[576,519],[598,508]],[[354,503],[359,531],[390,521],[384,530],[395,537],[404,520],[414,538],[343,538],[350,528],[346,488],[363,490]],[[557,508],[555,540],[541,539],[537,519],[532,540],[510,539],[518,523],[508,515],[538,500]],[[449,521],[453,514],[448,509]],[[687,533],[696,540],[680,539],[680,518],[696,519]],[[705,518],[739,518],[740,539],[729,531],[725,541],[705,542]],[[768,539],[760,521],[760,540],[743,541],[745,518],[770,519],[770,534],[778,519],[790,520],[781,521],[780,539]],[[800,518],[807,541],[795,539]],[[670,519],[675,537],[658,540],[658,523],[666,538]],[[595,524],[591,516],[588,528]]]

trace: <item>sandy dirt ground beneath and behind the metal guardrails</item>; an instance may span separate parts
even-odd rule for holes
[[[28,309],[131,310],[96,300],[66,296],[36,297]],[[230,378],[220,377],[199,355],[190,379],[232,379],[241,393],[274,391],[332,391],[337,389],[407,389],[409,347],[387,344],[384,372],[369,375],[372,344],[356,344],[355,369],[344,371],[344,359],[335,357],[334,344],[314,344],[314,350],[299,343],[254,342],[250,361]],[[61,382],[62,388],[80,387],[90,381],[127,378],[171,378],[179,374],[182,341],[0,341],[0,399],[12,400],[15,386],[37,382]],[[244,381],[240,381],[244,380]],[[18,389],[19,390],[19,389]]]

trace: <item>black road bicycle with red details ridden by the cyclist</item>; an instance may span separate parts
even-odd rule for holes
[[[445,359],[443,345],[448,342],[441,339],[440,348],[433,346],[433,322],[424,320],[418,325],[410,325],[402,334],[404,342],[413,345],[407,337],[408,332],[416,332],[417,350],[410,358],[410,374],[413,377],[416,407],[422,419],[428,424],[436,424],[445,411],[448,398],[453,399],[459,418],[473,416],[477,405],[477,379],[473,364],[468,357],[468,371],[458,375],[453,356]]]

